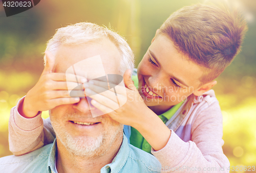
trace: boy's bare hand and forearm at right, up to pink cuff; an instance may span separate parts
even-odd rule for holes
[[[148,143],[155,149],[162,149],[169,140],[171,131],[163,121],[151,110],[140,96],[131,78],[131,70],[126,70],[123,75],[125,91],[116,89],[119,102],[127,101],[118,106],[113,88],[109,90],[107,82],[93,80],[93,83],[84,83],[86,95],[93,100],[92,105],[112,119],[121,124],[136,128]],[[111,83],[110,83],[111,85]],[[114,86],[113,86],[114,87]],[[116,85],[115,87],[121,87]],[[103,92],[104,91],[104,92]],[[117,109],[117,107],[119,107]]]

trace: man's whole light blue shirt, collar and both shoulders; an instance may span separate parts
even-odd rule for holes
[[[31,153],[22,156],[6,156],[0,158],[0,172],[10,173],[38,173],[54,172],[56,140]],[[84,168],[86,170],[86,168]],[[102,173],[113,172],[160,172],[161,164],[152,155],[127,143],[123,135],[123,142],[112,163],[100,169]],[[56,173],[56,172],[55,172]]]

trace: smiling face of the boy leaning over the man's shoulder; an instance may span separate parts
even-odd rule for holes
[[[169,109],[198,90],[202,70],[158,34],[138,66],[139,93],[147,106]]]

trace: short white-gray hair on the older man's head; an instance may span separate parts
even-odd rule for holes
[[[60,45],[79,45],[108,38],[121,54],[119,71],[123,75],[127,69],[134,68],[134,54],[125,39],[116,32],[92,23],[77,23],[56,30],[54,36],[48,41],[46,50],[54,56]],[[44,57],[46,63],[46,57]]]

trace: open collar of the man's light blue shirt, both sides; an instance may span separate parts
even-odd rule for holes
[[[55,156],[56,156],[56,150],[57,150],[57,144],[56,144],[56,138],[53,142],[49,158],[48,158],[48,172],[54,172],[54,164],[55,164]],[[123,134],[123,141],[119,148],[119,151],[116,155],[116,157],[113,159],[112,163],[107,164],[101,168],[101,172],[119,172],[122,167],[124,166],[125,162],[127,161],[127,158],[129,156],[129,145],[127,142],[127,138]]]

